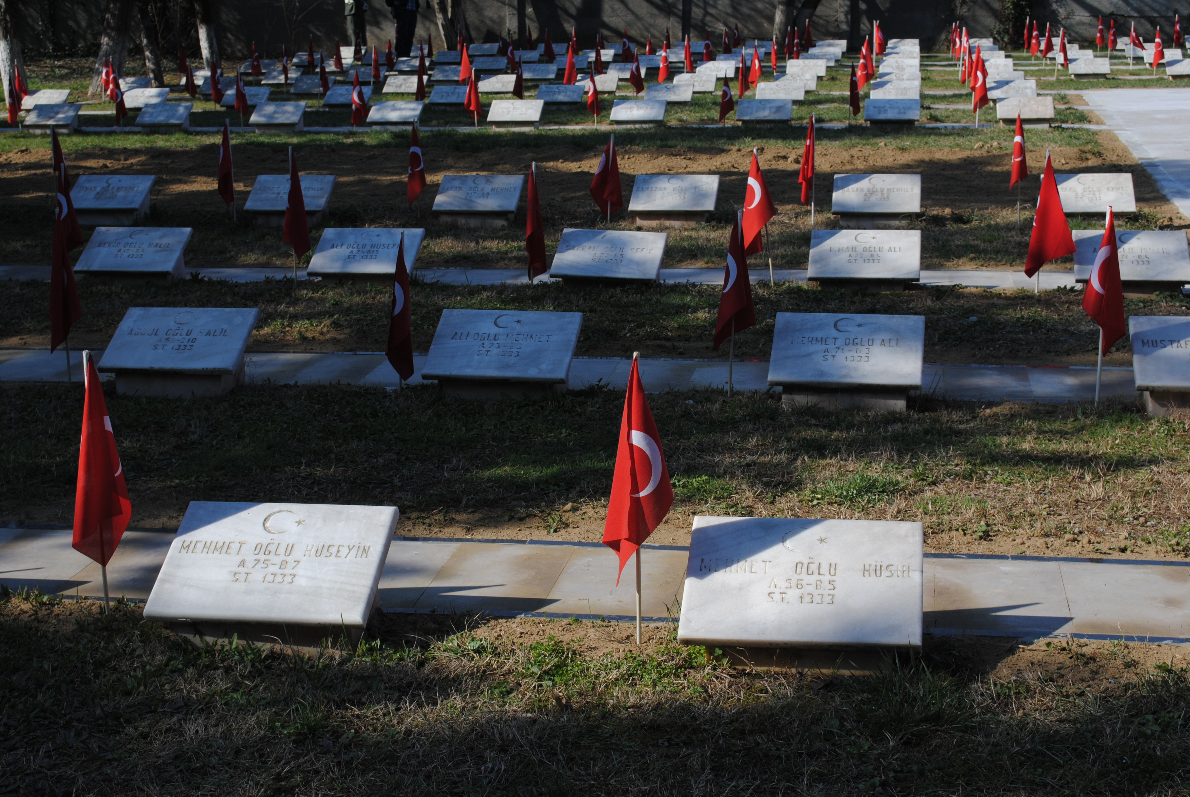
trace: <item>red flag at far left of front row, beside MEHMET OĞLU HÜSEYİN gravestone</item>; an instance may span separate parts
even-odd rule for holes
[[[115,449],[112,419],[95,361],[87,357],[87,386],[79,447],[79,482],[75,487],[74,540],[70,547],[107,567],[132,518],[124,466]]]

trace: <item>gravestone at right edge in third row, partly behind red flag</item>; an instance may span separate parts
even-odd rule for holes
[[[1091,278],[1103,230],[1071,230],[1075,245],[1075,280]],[[1190,248],[1180,230],[1116,231],[1120,280],[1126,294],[1182,291],[1190,284]]]

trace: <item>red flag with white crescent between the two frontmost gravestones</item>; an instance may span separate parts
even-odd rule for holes
[[[674,486],[665,467],[662,438],[633,359],[620,419],[612,497],[603,523],[603,544],[620,558],[616,585],[628,559],[660,525],[672,505]]]

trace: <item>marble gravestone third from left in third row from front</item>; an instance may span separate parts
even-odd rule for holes
[[[656,282],[665,257],[665,232],[566,228],[550,264],[562,280]]]

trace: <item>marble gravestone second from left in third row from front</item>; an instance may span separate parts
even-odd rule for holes
[[[393,281],[396,248],[405,236],[405,267],[413,272],[426,231],[420,228],[327,228],[309,261],[309,276],[324,280]]]

